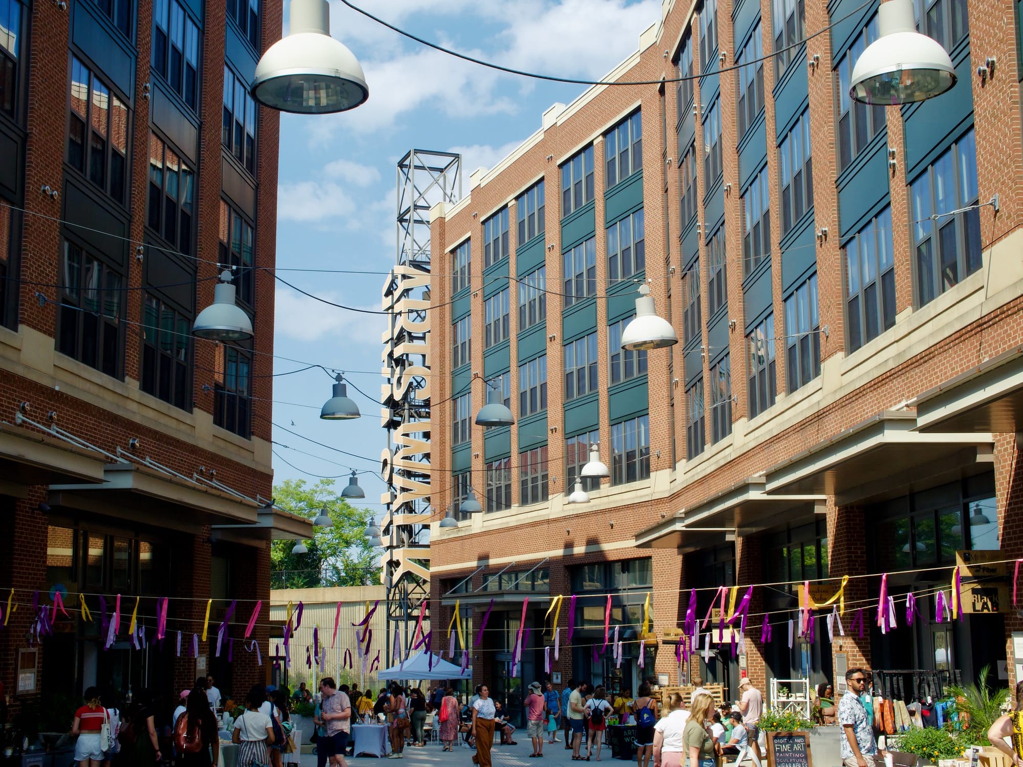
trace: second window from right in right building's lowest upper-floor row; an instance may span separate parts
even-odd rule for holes
[[[845,243],[849,351],[895,324],[892,214],[885,208]]]

